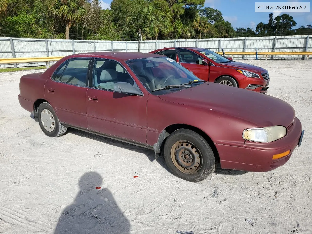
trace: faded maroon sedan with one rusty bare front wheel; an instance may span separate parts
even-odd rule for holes
[[[197,182],[221,167],[269,171],[301,143],[294,109],[277,98],[199,80],[163,55],[66,56],[21,77],[18,100],[42,131],[68,127],[160,152],[172,173]]]

